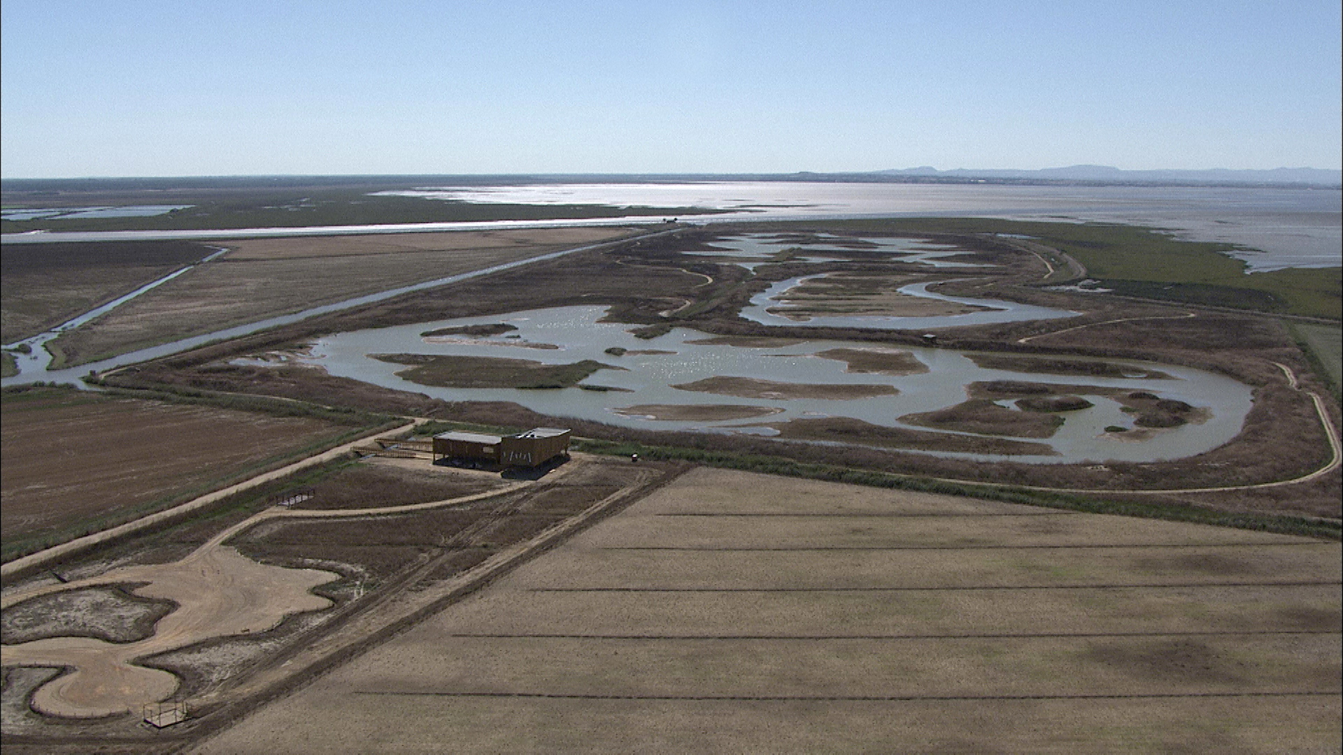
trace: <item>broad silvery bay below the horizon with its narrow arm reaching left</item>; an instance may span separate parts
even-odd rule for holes
[[[1060,187],[997,184],[838,184],[803,181],[702,181],[678,184],[547,184],[427,187],[395,192],[474,203],[705,207],[723,215],[682,220],[806,220],[839,218],[980,216],[1021,220],[1129,223],[1178,236],[1246,247],[1234,253],[1252,270],[1336,267],[1343,263],[1343,193],[1338,189],[1256,187]],[[223,239],[332,234],[537,228],[655,223],[630,216],[572,220],[497,220],[240,228],[208,231],[107,231],[5,234],[4,242]]]

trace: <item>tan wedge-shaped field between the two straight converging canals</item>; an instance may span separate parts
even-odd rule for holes
[[[627,234],[624,228],[465,231],[228,242],[230,253],[51,343],[82,364]]]

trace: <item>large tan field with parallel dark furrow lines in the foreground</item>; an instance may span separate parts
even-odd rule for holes
[[[201,752],[1336,751],[1340,545],[700,469]]]

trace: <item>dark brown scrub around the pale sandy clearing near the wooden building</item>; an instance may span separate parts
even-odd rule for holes
[[[313,658],[338,662],[356,649],[376,643],[383,634],[396,633],[402,626],[398,622],[406,621],[410,611],[399,606],[398,601],[410,605],[415,605],[416,601],[427,601],[426,605],[457,601],[459,594],[454,590],[465,584],[459,582],[465,571],[596,502],[615,500],[612,496],[622,490],[637,498],[646,494],[643,486],[661,485],[663,476],[678,473],[676,465],[655,462],[633,466],[610,459],[582,459],[569,462],[569,466],[572,469],[561,468],[530,488],[442,509],[316,520],[294,519],[301,515],[285,512],[293,516],[262,519],[259,524],[231,537],[227,544],[212,547],[224,556],[234,553],[236,547],[263,564],[337,572],[341,575],[337,582],[317,588],[317,592],[334,602],[334,606],[317,613],[294,614],[269,630],[228,633],[226,637],[158,653],[142,662],[175,674],[181,682],[177,696],[193,700],[201,697],[219,700],[220,695],[223,700],[235,703],[248,700],[248,696],[255,695],[255,689],[239,686],[240,680],[251,678],[248,674],[269,673],[270,676],[265,678],[279,680],[282,685],[301,684],[305,673],[308,676],[314,673],[312,669],[302,672]],[[473,476],[469,472],[431,466],[427,461],[412,463],[403,459],[373,459],[353,466],[346,462],[346,466],[316,485],[317,497],[310,502],[326,509],[320,513],[313,512],[314,516],[329,516],[334,513],[329,510],[332,506],[380,506],[436,500],[445,493],[479,489],[482,484],[497,486],[500,480],[497,476]],[[240,516],[247,516],[250,510],[257,510],[258,505],[265,505],[262,502],[265,500],[269,498],[262,496],[242,509],[220,512],[224,516],[197,517],[167,531],[124,541],[99,553],[87,553],[62,564],[60,571],[74,580],[82,576],[98,579],[109,568],[125,571],[124,564],[176,567],[171,562],[181,559],[203,540],[236,524]],[[255,563],[251,566],[263,568]],[[129,568],[134,571],[138,567]],[[48,582],[55,584],[54,580],[36,575],[27,583],[12,587],[27,590]],[[145,629],[141,626],[146,623],[142,615],[145,609],[140,603],[150,609],[157,606],[144,601],[138,603],[121,601],[126,603],[122,606],[111,599],[118,594],[115,590],[97,591],[107,592],[111,598],[91,592],[95,591],[78,590],[26,601],[16,606],[13,621],[11,610],[7,609],[7,641],[11,630],[30,635],[39,631],[52,637],[114,631],[117,637],[129,637],[128,633],[136,627]],[[94,603],[115,610],[105,611],[106,615],[101,618],[86,615]],[[73,625],[68,621],[62,623],[60,617],[51,615],[52,611],[68,614],[68,609],[75,605],[79,610],[78,615],[71,618],[75,622]],[[130,626],[132,623],[134,626]],[[342,639],[322,648],[321,642],[332,633],[338,633]],[[333,656],[333,650],[340,648],[345,649]],[[316,656],[309,661],[293,668],[285,662],[295,654],[310,652]],[[294,676],[295,672],[302,673]],[[23,700],[32,695],[34,689],[47,678],[7,668],[7,704],[15,701],[13,696]],[[248,707],[244,705],[242,709],[246,711]],[[204,721],[208,731],[227,724],[231,716],[236,715],[234,708],[212,715],[218,711],[219,703],[196,704],[192,724],[197,725],[179,727],[171,734],[164,732],[167,736],[145,739],[144,732],[136,728],[138,716],[134,715],[79,723],[54,721],[35,715],[24,705],[21,711],[7,709],[4,713],[5,748],[13,744],[15,735],[19,735],[20,742],[43,746],[79,742],[89,747],[111,736],[121,742],[136,743],[140,751],[156,751],[167,743],[172,743],[169,747],[180,747],[184,742],[199,736],[197,719]]]

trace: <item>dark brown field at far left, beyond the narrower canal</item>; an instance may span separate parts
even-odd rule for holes
[[[0,245],[0,343],[59,325],[212,251],[189,242]]]

